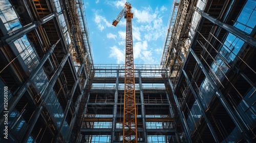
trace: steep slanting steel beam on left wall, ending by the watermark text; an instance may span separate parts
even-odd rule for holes
[[[60,39],[59,39],[60,40]],[[17,105],[18,101],[23,97],[23,94],[27,91],[28,87],[31,85],[31,83],[34,81],[34,79],[37,77],[37,73],[42,68],[42,65],[45,64],[47,59],[50,57],[50,55],[53,53],[54,48],[56,47],[56,44],[58,44],[59,40],[52,45],[51,50],[49,50],[44,57],[41,58],[40,63],[35,67],[35,69],[32,70],[31,76],[28,78],[28,80],[19,88],[17,91],[17,94],[13,97],[13,102],[10,104],[9,112],[12,112],[12,110]],[[4,122],[4,118],[1,119],[0,125]]]

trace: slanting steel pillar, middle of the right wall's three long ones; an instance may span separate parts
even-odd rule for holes
[[[185,76],[185,78],[186,78],[187,85],[189,86],[190,90],[191,90],[192,93],[194,94],[194,97],[196,98],[196,102],[197,102],[198,105],[199,105],[200,111],[201,111],[201,113],[203,114],[204,120],[205,120],[207,126],[209,127],[210,132],[211,132],[212,136],[213,136],[214,139],[215,139],[215,142],[220,142],[219,139],[218,139],[217,134],[216,134],[215,131],[214,131],[214,128],[212,127],[210,121],[208,120],[208,118],[207,118],[207,116],[206,116],[206,114],[205,114],[205,112],[204,112],[204,108],[203,108],[203,105],[202,105],[202,103],[201,103],[201,101],[200,101],[200,99],[199,99],[199,97],[198,97],[198,94],[196,93],[196,91],[194,90],[193,86],[191,85],[190,80],[188,79],[185,70],[182,69],[182,71],[183,71],[183,74],[184,74],[184,76]]]

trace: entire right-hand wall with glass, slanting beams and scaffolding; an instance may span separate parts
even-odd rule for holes
[[[187,19],[182,21],[186,4],[196,8],[187,10]],[[217,7],[222,10],[217,12]],[[161,64],[168,70],[176,103],[186,118],[184,130],[192,142],[251,142],[255,138],[251,130],[256,123],[255,45],[241,36],[255,39],[255,8],[252,0],[179,3],[173,16],[178,22],[171,31],[175,37],[167,37]]]

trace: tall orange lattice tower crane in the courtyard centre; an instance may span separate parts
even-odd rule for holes
[[[137,142],[137,112],[132,34],[133,13],[131,9],[132,5],[126,2],[122,11],[112,23],[112,25],[116,27],[123,16],[126,18],[123,142]]]

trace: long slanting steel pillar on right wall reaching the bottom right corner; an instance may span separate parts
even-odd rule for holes
[[[247,140],[247,142],[253,142],[252,139],[248,136],[248,128],[247,128],[247,126],[242,124],[242,123],[244,123],[242,121],[242,118],[238,117],[236,115],[236,113],[233,112],[231,106],[228,104],[228,102],[226,101],[225,97],[221,93],[221,90],[217,88],[217,83],[211,78],[211,76],[209,75],[208,71],[206,70],[204,65],[201,63],[200,59],[197,57],[197,55],[194,52],[194,50],[192,50],[191,47],[190,47],[189,51],[193,55],[193,57],[196,59],[198,65],[202,69],[204,75],[210,81],[212,87],[216,90],[217,97],[219,98],[219,100],[220,100],[221,104],[223,105],[223,107],[226,109],[228,115],[231,117],[231,119],[234,122],[234,124],[239,128],[240,132],[242,133],[244,138]]]

